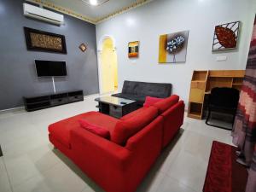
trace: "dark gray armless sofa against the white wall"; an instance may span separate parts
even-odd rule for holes
[[[138,81],[125,80],[121,93],[113,94],[125,99],[137,101],[139,105],[143,105],[146,96],[154,96],[165,98],[171,96],[172,84],[146,83]]]

